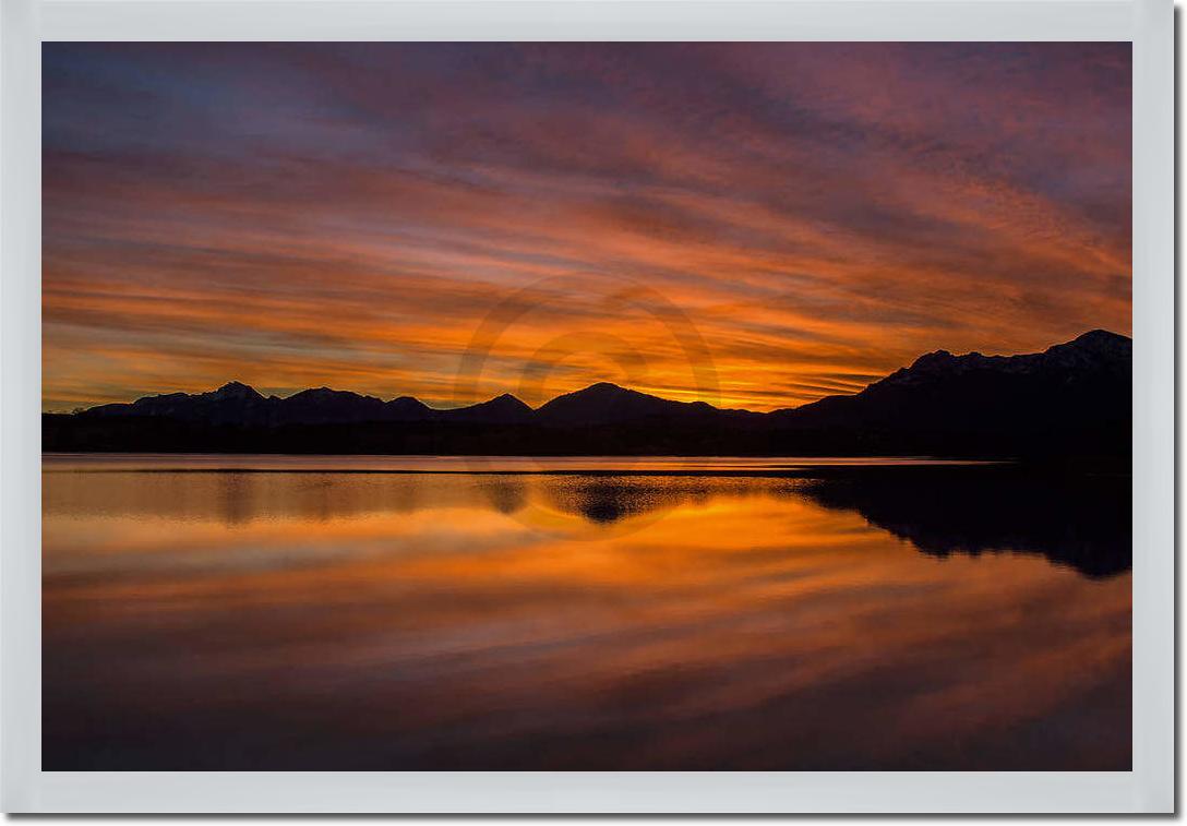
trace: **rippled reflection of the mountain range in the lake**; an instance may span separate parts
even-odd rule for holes
[[[44,512],[180,520],[216,513],[227,525],[242,525],[279,516],[332,521],[488,506],[520,515],[540,530],[605,538],[604,529],[618,522],[639,529],[674,508],[705,507],[723,494],[761,495],[806,497],[832,510],[856,512],[934,557],[1035,553],[1091,577],[1113,576],[1132,565],[1130,478],[1119,475],[1043,475],[1007,466],[825,466],[716,476],[357,476],[230,471],[154,472],[146,478],[125,471],[96,479],[61,472],[46,485]],[[525,516],[529,509],[540,513]]]

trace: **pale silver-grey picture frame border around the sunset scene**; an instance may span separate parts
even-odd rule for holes
[[[6,812],[1174,811],[1170,0],[0,2],[0,794]],[[43,39],[1132,40],[1132,771],[40,771]]]

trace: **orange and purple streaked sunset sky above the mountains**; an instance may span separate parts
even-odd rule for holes
[[[772,409],[1130,332],[1128,43],[45,44],[43,88],[45,409]]]

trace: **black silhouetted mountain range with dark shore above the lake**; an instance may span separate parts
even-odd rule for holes
[[[43,417],[45,451],[673,456],[1129,455],[1132,342],[1093,330],[1043,352],[938,350],[861,393],[753,413],[599,382],[532,409],[510,394],[437,409],[240,382]]]

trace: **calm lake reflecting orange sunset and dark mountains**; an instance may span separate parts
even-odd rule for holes
[[[918,462],[46,456],[43,768],[1126,769],[1129,501]]]

